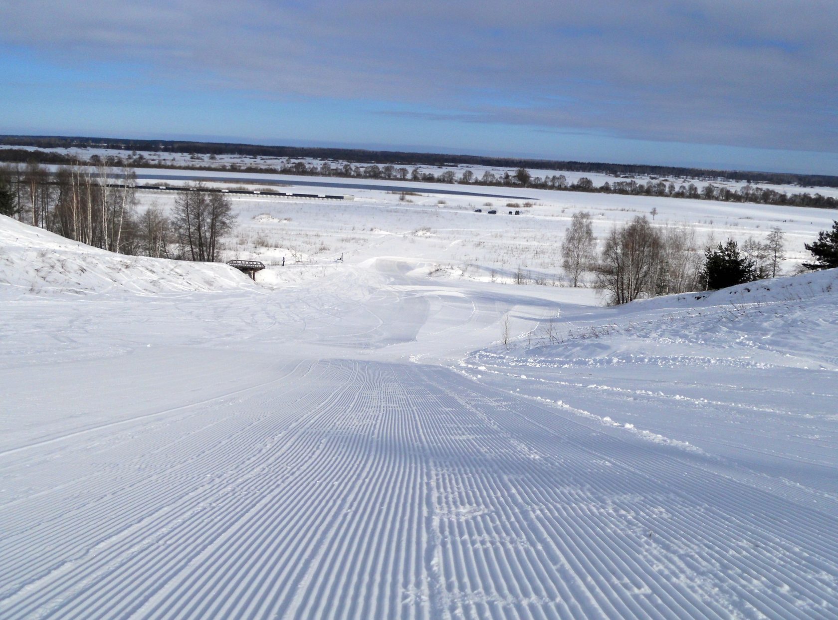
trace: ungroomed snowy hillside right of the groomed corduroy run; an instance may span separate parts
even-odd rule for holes
[[[838,501],[838,270],[593,312],[566,307],[461,369]]]

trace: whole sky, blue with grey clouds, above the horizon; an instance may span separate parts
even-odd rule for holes
[[[0,132],[838,173],[838,3],[0,0]]]

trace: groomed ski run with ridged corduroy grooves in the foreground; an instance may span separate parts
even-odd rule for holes
[[[717,459],[650,450],[447,369],[289,369],[0,455],[4,483],[43,481],[0,509],[0,615],[838,611],[832,514]]]

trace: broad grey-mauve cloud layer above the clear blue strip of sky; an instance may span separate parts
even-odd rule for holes
[[[69,64],[131,63],[195,89],[838,151],[833,0],[0,0],[0,13],[6,44]]]

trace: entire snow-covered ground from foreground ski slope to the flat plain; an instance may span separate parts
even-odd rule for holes
[[[256,284],[0,217],[0,617],[838,615],[838,273],[511,284],[574,209],[834,213],[355,194],[235,200]]]

